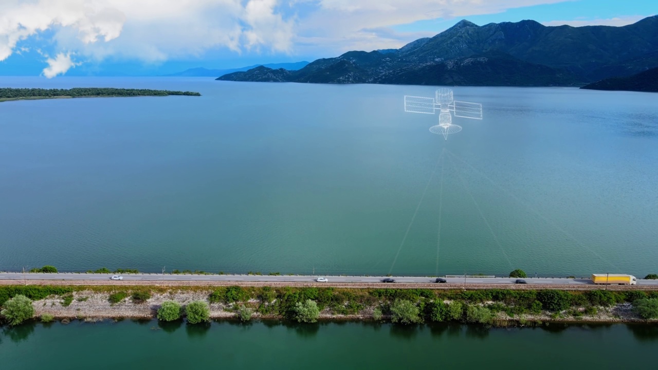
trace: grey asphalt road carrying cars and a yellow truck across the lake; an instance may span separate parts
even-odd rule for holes
[[[111,281],[113,274],[86,274],[86,273],[0,273],[0,280],[86,280],[86,281]],[[124,274],[122,281],[157,281],[157,282],[315,282],[317,276],[301,275],[170,275],[170,274]],[[325,276],[329,282],[336,283],[374,283],[380,282],[386,277],[357,277],[357,276]],[[412,284],[427,284],[434,282],[431,277],[392,277],[395,282]],[[446,278],[447,284],[514,284],[515,278],[505,277],[449,277]],[[528,284],[565,284],[594,285],[589,278],[524,278]],[[391,284],[394,285],[394,284]],[[638,279],[638,285],[658,286],[658,280]]]

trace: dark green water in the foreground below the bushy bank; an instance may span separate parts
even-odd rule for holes
[[[166,329],[166,330],[165,330]],[[363,323],[208,329],[156,321],[3,330],[7,369],[652,369],[658,327],[491,329]]]

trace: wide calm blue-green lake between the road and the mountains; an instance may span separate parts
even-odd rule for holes
[[[203,94],[0,103],[0,269],[657,272],[658,94],[456,87],[484,119],[445,141],[428,86],[0,86]]]

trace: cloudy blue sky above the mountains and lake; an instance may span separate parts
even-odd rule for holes
[[[0,75],[157,76],[399,48],[478,25],[624,26],[655,0],[0,0]]]

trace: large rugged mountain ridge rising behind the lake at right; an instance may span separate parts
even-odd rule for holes
[[[461,20],[400,49],[349,51],[299,70],[259,67],[217,80],[328,84],[582,85],[658,66],[658,16],[623,27]]]

